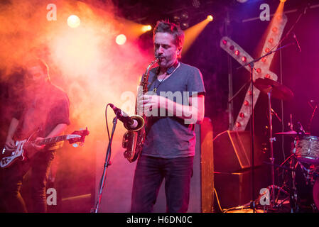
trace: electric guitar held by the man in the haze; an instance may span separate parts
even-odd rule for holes
[[[16,162],[16,160],[25,160],[26,157],[31,158],[33,155],[35,155],[34,152],[31,152],[31,149],[34,145],[53,145],[57,142],[68,140],[70,144],[72,143],[80,143],[80,145],[83,145],[85,136],[89,135],[89,131],[87,131],[87,128],[85,130],[81,131],[74,131],[72,134],[69,135],[60,135],[53,138],[46,138],[43,140],[36,140],[36,141],[30,141],[33,137],[34,133],[30,135],[26,140],[17,140],[15,143],[14,150],[6,150],[6,148],[2,149],[1,152],[1,160],[0,160],[0,167],[6,168],[13,164],[13,162]],[[75,144],[76,145],[76,144]],[[30,152],[29,152],[30,151]]]

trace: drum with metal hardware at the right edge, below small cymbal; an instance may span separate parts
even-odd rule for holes
[[[294,153],[301,162],[319,165],[319,138],[313,135],[305,135],[295,138]]]

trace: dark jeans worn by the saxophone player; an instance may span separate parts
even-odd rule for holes
[[[141,155],[134,175],[131,212],[152,212],[165,179],[166,212],[185,213],[188,210],[192,175],[193,157],[165,159]]]

